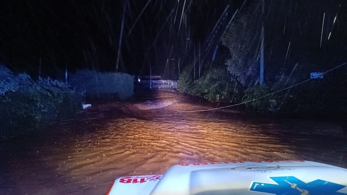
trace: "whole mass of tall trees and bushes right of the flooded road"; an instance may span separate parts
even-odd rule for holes
[[[242,106],[249,112],[346,112],[347,65],[333,70],[346,62],[347,47],[339,44],[344,32],[334,29],[336,36],[329,39],[329,44],[318,44],[321,33],[301,31],[298,20],[289,16],[288,10],[297,8],[294,5],[289,1],[245,3],[221,36],[218,50],[208,54],[209,57],[214,52],[212,60],[201,65],[200,53],[195,55],[195,49],[191,52],[195,57],[180,74],[180,90],[212,102],[247,102]],[[266,7],[265,13],[262,6]],[[305,13],[303,7],[299,9]],[[321,12],[312,15],[320,17]],[[300,23],[313,29],[313,23],[308,22],[310,17],[302,17]],[[333,43],[338,46],[331,47]],[[327,71],[323,78],[310,79],[312,72]],[[264,78],[262,83],[260,78]]]

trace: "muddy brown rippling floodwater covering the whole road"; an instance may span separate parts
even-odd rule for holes
[[[1,195],[102,195],[126,175],[178,163],[304,159],[347,168],[336,120],[244,115],[179,93],[93,104],[0,145]]]

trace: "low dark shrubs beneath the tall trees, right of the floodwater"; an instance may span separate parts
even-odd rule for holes
[[[247,88],[232,80],[225,72],[223,68],[212,68],[211,71],[205,71],[201,78],[193,80],[186,68],[181,73],[179,89],[209,101],[216,101],[218,94],[219,100],[223,102],[247,102],[245,108],[249,112],[347,111],[347,82],[341,72],[324,75],[323,79],[307,80],[309,71],[298,70],[291,77],[281,75],[265,84],[256,83]],[[307,82],[301,83],[304,80]]]

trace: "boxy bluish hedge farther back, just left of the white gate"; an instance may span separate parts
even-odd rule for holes
[[[133,76],[125,73],[99,73],[96,71],[78,71],[71,76],[71,86],[77,91],[86,90],[88,96],[117,94],[121,100],[133,94]]]

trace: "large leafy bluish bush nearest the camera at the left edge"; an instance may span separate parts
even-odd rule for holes
[[[58,80],[32,80],[0,66],[0,140],[70,117],[80,107],[73,90]]]

